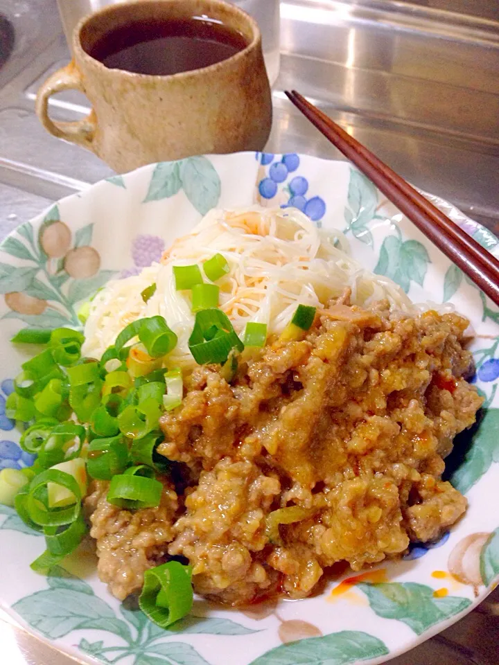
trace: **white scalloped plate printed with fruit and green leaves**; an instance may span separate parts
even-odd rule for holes
[[[457,224],[499,256],[494,236],[432,197]],[[330,579],[319,596],[251,611],[195,601],[169,630],[120,604],[96,576],[94,554],[67,558],[48,577],[30,570],[44,549],[0,506],[0,601],[61,650],[85,662],[122,665],[345,665],[385,662],[457,621],[499,574],[499,312],[463,274],[348,163],[297,154],[193,157],[116,176],[58,204],[0,247],[0,468],[21,468],[5,400],[24,351],[21,327],[78,326],[76,308],[113,276],[139,272],[213,206],[295,205],[351,240],[353,254],[398,282],[413,301],[452,302],[472,321],[476,382],[485,408],[459,438],[448,477],[469,499],[464,519],[430,546],[412,547],[352,577]]]

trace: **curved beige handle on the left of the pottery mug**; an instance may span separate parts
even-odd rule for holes
[[[94,110],[86,118],[72,123],[63,123],[52,120],[49,116],[49,98],[62,91],[76,89],[85,94],[82,85],[82,76],[76,64],[71,61],[66,67],[58,69],[42,84],[37,92],[35,109],[38,118],[47,132],[57,136],[58,139],[66,139],[71,143],[81,145],[82,148],[92,150],[92,141],[97,129],[96,115]]]

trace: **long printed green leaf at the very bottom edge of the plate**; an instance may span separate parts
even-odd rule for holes
[[[374,635],[342,630],[324,637],[308,637],[283,644],[251,665],[347,665],[387,655],[386,645]]]

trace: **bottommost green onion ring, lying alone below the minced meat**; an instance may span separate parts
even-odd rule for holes
[[[161,628],[189,614],[193,605],[192,568],[168,561],[144,573],[139,607]]]

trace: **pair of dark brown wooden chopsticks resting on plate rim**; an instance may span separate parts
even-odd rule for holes
[[[361,143],[295,90],[286,95],[489,298],[499,305],[499,261]]]

